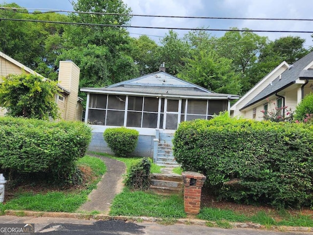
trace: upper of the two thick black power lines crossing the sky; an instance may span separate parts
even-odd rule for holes
[[[70,0],[68,0],[70,1]],[[70,2],[72,4],[72,2]],[[48,12],[20,12],[27,14],[45,14],[51,12],[67,12],[77,14],[92,14],[92,15],[115,15],[115,16],[139,16],[139,17],[161,17],[161,18],[184,18],[184,19],[213,19],[213,20],[258,20],[258,21],[313,21],[313,19],[291,19],[291,18],[242,18],[242,17],[202,17],[202,16],[165,16],[165,15],[141,15],[141,14],[124,14],[124,13],[108,13],[108,12],[84,12],[84,11],[69,11],[47,8],[15,8],[15,7],[0,7],[3,10],[27,9],[27,10],[48,10]]]

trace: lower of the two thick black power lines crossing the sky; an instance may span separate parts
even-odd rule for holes
[[[19,21],[19,22],[36,22],[36,23],[51,23],[51,24],[71,24],[71,25],[89,25],[103,27],[123,27],[123,28],[149,28],[149,29],[173,29],[173,30],[195,30],[195,31],[235,31],[235,32],[267,32],[267,33],[313,33],[313,31],[294,31],[294,30],[252,30],[252,29],[220,29],[220,28],[179,28],[179,27],[153,27],[153,26],[134,26],[134,25],[118,25],[118,24],[91,24],[91,23],[76,23],[76,22],[54,22],[54,21],[39,21],[27,19],[6,19],[0,18],[0,21]]]

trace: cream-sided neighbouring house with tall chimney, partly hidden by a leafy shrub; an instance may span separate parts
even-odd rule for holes
[[[41,76],[0,52],[0,84],[3,77],[22,72]],[[61,118],[64,120],[82,120],[83,100],[78,96],[79,73],[80,69],[73,62],[60,61],[58,86],[61,92],[55,95],[55,102],[58,104]],[[5,109],[0,107],[0,116],[3,116],[5,112]]]

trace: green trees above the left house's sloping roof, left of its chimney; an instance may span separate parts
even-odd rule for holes
[[[15,3],[0,6],[20,8]],[[30,14],[26,9],[6,9],[0,13],[6,19],[67,21],[63,14],[39,11]],[[56,79],[58,66],[54,64],[60,53],[63,32],[62,24],[1,21],[0,50],[45,77]]]

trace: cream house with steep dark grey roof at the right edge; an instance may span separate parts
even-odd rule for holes
[[[275,106],[287,106],[287,110],[282,110],[284,116],[290,108],[294,111],[303,97],[312,91],[313,52],[310,52],[292,65],[284,61],[269,72],[230,108],[230,114],[263,120],[263,111],[267,113]]]

